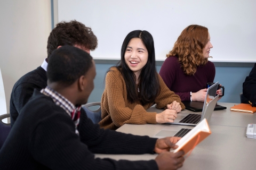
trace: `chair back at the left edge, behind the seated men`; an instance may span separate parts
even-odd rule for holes
[[[3,119],[7,117],[10,117],[10,113],[0,115],[0,149],[2,148],[4,141],[11,130],[11,123],[3,122]]]

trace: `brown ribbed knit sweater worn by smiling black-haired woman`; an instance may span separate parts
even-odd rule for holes
[[[163,79],[158,75],[161,92],[156,97],[156,108],[166,108],[167,104],[173,101],[181,103],[180,97],[165,85]],[[101,97],[101,128],[116,130],[126,123],[130,124],[156,124],[156,112],[147,112],[146,109],[154,103],[142,106],[139,101],[130,103],[127,100],[125,81],[121,72],[112,67],[106,75],[106,87]]]

